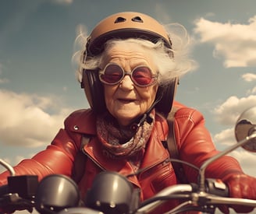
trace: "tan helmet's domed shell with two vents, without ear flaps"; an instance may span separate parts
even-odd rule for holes
[[[154,43],[162,39],[167,47],[172,47],[164,26],[151,16],[140,12],[119,12],[103,19],[94,27],[87,41],[87,54],[101,53],[103,44],[112,38],[130,37],[151,40]]]

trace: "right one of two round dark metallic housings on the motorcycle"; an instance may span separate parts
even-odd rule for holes
[[[129,213],[138,207],[139,191],[120,174],[102,172],[95,177],[84,203],[104,213]]]

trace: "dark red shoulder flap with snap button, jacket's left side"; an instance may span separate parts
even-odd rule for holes
[[[96,115],[91,109],[73,111],[64,121],[66,130],[87,135],[96,133]]]

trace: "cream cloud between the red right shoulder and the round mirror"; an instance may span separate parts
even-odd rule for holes
[[[238,98],[230,96],[220,106],[215,107],[215,119],[223,125],[234,125],[239,115],[247,108],[256,105],[256,95]]]

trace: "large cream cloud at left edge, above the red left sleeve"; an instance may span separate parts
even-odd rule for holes
[[[56,97],[6,90],[0,90],[0,103],[0,143],[14,146],[48,144],[70,112]]]

